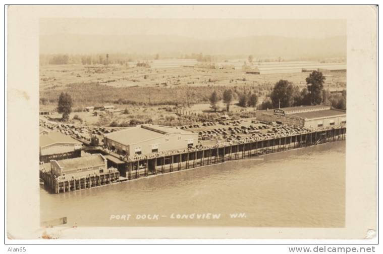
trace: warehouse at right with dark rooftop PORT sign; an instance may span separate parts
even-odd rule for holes
[[[346,124],[346,111],[330,106],[300,106],[256,112],[258,121],[276,122],[293,127],[317,128]]]

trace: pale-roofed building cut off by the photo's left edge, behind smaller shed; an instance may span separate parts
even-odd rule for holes
[[[81,155],[82,143],[60,132],[40,134],[40,162],[74,158]]]

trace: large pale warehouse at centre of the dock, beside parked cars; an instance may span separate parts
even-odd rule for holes
[[[197,142],[198,133],[157,125],[139,125],[104,136],[109,149],[128,156],[187,149]]]

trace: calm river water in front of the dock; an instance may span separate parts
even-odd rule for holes
[[[70,226],[344,227],[345,149],[345,141],[338,141],[94,189],[49,194],[42,188],[41,220],[67,217]],[[171,218],[193,213],[220,217]],[[230,218],[236,213],[243,218]],[[136,217],[148,214],[158,220]]]

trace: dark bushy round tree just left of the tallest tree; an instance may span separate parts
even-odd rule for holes
[[[291,107],[294,105],[294,86],[288,80],[278,81],[271,94],[271,103],[274,108],[279,108],[281,103],[281,108]]]

